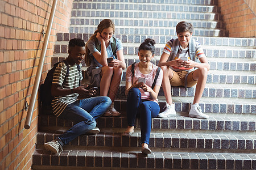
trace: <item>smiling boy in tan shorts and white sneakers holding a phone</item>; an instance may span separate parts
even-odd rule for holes
[[[201,112],[199,101],[207,82],[209,64],[200,43],[191,39],[193,25],[180,22],[176,25],[177,38],[166,43],[158,66],[163,70],[163,91],[166,97],[166,110],[158,117],[171,117],[176,115],[172,103],[171,86],[192,87],[196,85],[193,104],[189,117],[208,118]]]

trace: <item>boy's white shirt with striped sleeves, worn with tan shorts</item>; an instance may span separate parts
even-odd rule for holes
[[[168,41],[166,43],[166,46],[164,46],[164,49],[163,49],[163,52],[164,53],[167,53],[168,55],[171,54],[172,52],[172,44],[173,44],[174,41]],[[205,54],[204,54],[204,50],[201,46],[201,44],[199,43],[199,41],[196,41],[196,57],[197,58],[201,58],[201,57],[206,57]],[[188,47],[183,49],[180,45],[179,45],[179,50],[175,56],[175,59],[177,58],[180,58],[180,57],[188,57],[188,59],[191,59],[190,56],[189,56],[189,49]],[[195,68],[185,68],[185,67],[175,67],[175,66],[172,66],[171,67],[172,70],[174,71],[182,71],[182,70],[189,70],[189,71],[192,71],[194,70]],[[191,70],[192,69],[192,70]]]

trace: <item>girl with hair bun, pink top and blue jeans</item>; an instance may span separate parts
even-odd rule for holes
[[[155,41],[146,39],[139,46],[139,63],[130,65],[126,71],[127,122],[128,127],[123,136],[129,137],[134,132],[136,115],[141,116],[142,153],[150,154],[148,148],[151,131],[151,118],[158,115],[158,92],[163,78],[160,67],[150,61],[155,54]],[[156,78],[155,78],[156,77]],[[143,79],[141,81],[141,79]],[[143,82],[144,81],[144,82]],[[153,84],[153,85],[152,85]],[[155,85],[154,85],[155,84]]]

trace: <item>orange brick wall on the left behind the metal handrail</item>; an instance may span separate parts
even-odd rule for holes
[[[56,32],[68,32],[73,0],[59,0],[44,71],[51,67]],[[31,169],[38,130],[36,102],[31,128],[24,129],[43,37],[53,0],[0,0],[0,169]],[[46,74],[43,74],[44,79]]]

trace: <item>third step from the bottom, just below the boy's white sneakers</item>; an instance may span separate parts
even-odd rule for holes
[[[71,128],[74,125],[72,121],[57,118],[47,111],[41,113],[42,114],[39,116],[39,130],[41,131],[53,130],[54,127],[57,129],[61,128],[63,130]],[[123,131],[127,128],[125,112],[121,112],[121,117],[99,117],[96,121],[97,127],[100,128],[101,131],[105,132],[111,131],[120,133],[120,128],[122,128]],[[135,128],[140,128],[139,122],[140,120],[137,118],[135,121]],[[255,124],[255,114],[230,114],[229,117],[228,115],[222,116],[221,114],[214,114],[205,120],[191,118],[188,116],[175,116],[169,118],[152,118],[151,131],[162,133],[186,133],[193,130],[197,133],[200,132],[208,134],[230,134],[231,131],[234,133],[246,131],[247,134],[251,134],[255,133]]]

